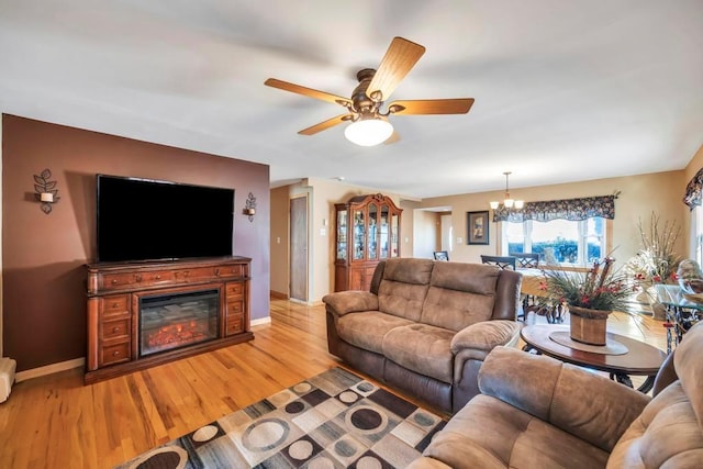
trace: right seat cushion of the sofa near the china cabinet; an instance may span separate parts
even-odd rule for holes
[[[383,337],[383,355],[401,367],[451,383],[454,331],[413,323],[395,327]]]

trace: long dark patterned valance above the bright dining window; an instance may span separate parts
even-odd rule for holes
[[[550,222],[553,220],[580,221],[594,216],[612,220],[615,217],[615,199],[617,199],[617,193],[581,199],[525,202],[525,205],[520,210],[505,209],[501,205],[493,211],[493,221],[515,223],[522,223],[525,220],[538,222]]]

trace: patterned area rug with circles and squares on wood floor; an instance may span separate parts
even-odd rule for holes
[[[402,468],[445,423],[333,368],[116,468]]]

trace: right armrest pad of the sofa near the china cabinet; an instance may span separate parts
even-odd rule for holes
[[[482,321],[464,327],[451,339],[451,353],[466,348],[490,351],[499,345],[509,345],[520,336],[523,323],[510,320]]]

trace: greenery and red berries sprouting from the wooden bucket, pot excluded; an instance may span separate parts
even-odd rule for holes
[[[633,291],[632,282],[625,272],[613,270],[614,261],[610,256],[603,261],[596,260],[588,272],[545,269],[546,280],[540,288],[553,301],[569,306],[609,313],[626,312]]]

